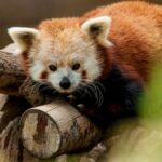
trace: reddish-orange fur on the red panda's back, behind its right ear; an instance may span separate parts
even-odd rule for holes
[[[108,56],[112,55],[118,64],[134,67],[147,81],[153,60],[162,59],[162,6],[139,1],[120,2],[91,11],[84,18],[103,15],[112,18],[108,38],[114,48],[107,49]]]

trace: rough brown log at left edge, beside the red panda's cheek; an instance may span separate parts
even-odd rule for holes
[[[0,93],[19,95],[18,90],[25,78],[17,57],[0,51]]]

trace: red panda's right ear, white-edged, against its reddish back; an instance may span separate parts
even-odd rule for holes
[[[106,48],[112,46],[112,43],[108,40],[108,33],[110,30],[111,17],[102,16],[90,18],[84,22],[81,28],[86,31],[91,37]]]

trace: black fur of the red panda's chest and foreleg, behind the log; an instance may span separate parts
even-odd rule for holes
[[[77,96],[75,105],[85,105],[85,109],[81,110],[82,113],[104,127],[107,127],[117,119],[137,114],[136,105],[143,92],[143,85],[140,83],[129,78],[127,75],[125,76],[118,66],[113,66],[108,77],[99,83],[102,86],[98,84],[98,89],[104,96],[104,100],[99,107],[95,102],[96,96],[93,93],[79,92],[79,94],[75,94]]]

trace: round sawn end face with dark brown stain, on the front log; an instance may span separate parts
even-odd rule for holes
[[[24,117],[22,139],[24,146],[33,154],[41,158],[52,157],[58,151],[60,135],[57,125],[39,110],[27,112]]]

